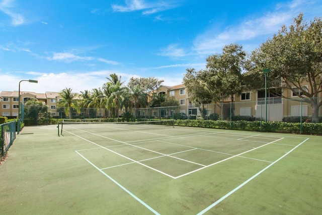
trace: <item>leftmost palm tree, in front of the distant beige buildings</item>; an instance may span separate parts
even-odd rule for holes
[[[76,94],[72,93],[70,88],[66,88],[59,95],[61,96],[61,100],[57,102],[57,106],[64,107],[66,116],[71,118],[71,108],[77,108]]]

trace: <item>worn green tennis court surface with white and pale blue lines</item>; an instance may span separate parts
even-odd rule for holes
[[[59,133],[60,134],[60,133]],[[24,127],[1,214],[320,214],[322,137],[136,124]]]

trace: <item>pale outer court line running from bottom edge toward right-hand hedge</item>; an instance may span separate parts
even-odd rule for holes
[[[231,190],[230,192],[228,192],[226,195],[222,196],[221,198],[219,198],[217,201],[215,201],[214,203],[210,204],[208,207],[206,207],[205,209],[203,209],[202,211],[200,211],[199,213],[197,213],[197,215],[201,215],[204,214],[205,212],[207,212],[208,210],[210,210],[211,208],[213,208],[214,206],[216,206],[218,203],[220,203],[221,201],[223,201],[224,199],[226,199],[227,197],[229,197],[232,193],[236,192],[239,188],[243,187],[244,185],[246,185],[248,182],[250,182],[251,180],[253,180],[254,178],[256,178],[257,176],[259,176],[261,173],[263,173],[265,170],[267,170],[268,168],[270,168],[271,166],[273,166],[274,164],[276,164],[278,161],[280,161],[282,158],[284,158],[285,156],[287,156],[288,154],[290,154],[293,150],[295,150],[297,147],[301,146],[306,140],[308,140],[309,138],[306,138],[304,141],[302,141],[299,145],[297,145],[296,147],[294,147],[292,150],[290,150],[288,153],[286,153],[285,155],[283,155],[282,157],[280,157],[279,159],[277,159],[276,161],[274,161],[272,164],[268,165],[267,167],[265,167],[264,169],[262,169],[260,172],[258,172],[257,174],[253,175],[251,178],[249,178],[248,180],[246,180],[245,182],[241,183],[239,186],[237,186],[236,188],[234,188],[233,190]]]

